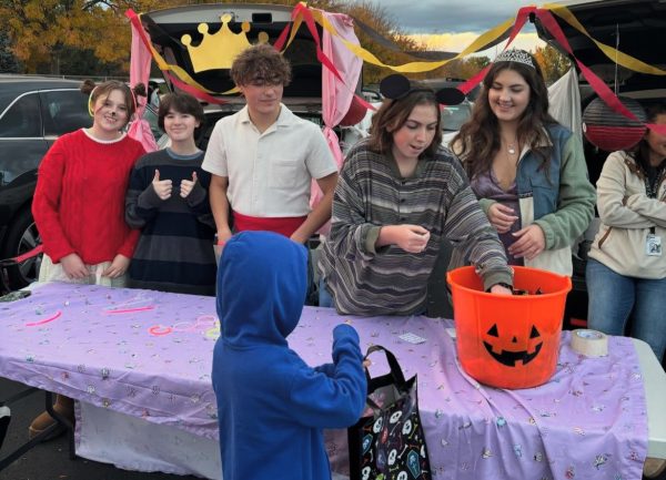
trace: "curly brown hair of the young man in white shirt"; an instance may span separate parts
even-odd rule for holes
[[[291,65],[273,45],[260,43],[245,49],[234,59],[230,75],[236,85],[248,85],[261,79],[286,86],[291,82]]]

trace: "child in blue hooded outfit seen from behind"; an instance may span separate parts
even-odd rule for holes
[[[289,348],[307,284],[303,245],[243,232],[218,274],[222,335],[213,354],[224,480],[330,479],[324,428],[346,428],[365,406],[359,335],[333,330],[333,364],[309,367]]]

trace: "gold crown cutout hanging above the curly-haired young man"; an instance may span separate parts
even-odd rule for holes
[[[214,34],[209,34],[208,23],[199,23],[196,30],[203,35],[199,47],[191,44],[192,37],[190,34],[181,37],[181,42],[188,48],[188,53],[190,54],[192,68],[195,73],[214,69],[231,69],[231,64],[238,54],[248,47],[251,47],[246,35],[251,28],[250,22],[243,22],[241,24],[242,32],[236,34],[229,28],[231,19],[231,13],[224,13],[220,17],[220,20],[222,20],[222,28]],[[266,32],[260,32],[258,42],[266,43],[268,41],[269,34]]]

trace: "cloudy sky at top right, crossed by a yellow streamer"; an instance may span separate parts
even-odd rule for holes
[[[430,50],[460,52],[481,33],[515,18],[518,9],[541,4],[529,0],[373,0],[402,30]],[[544,0],[545,1],[545,0]],[[512,47],[544,45],[534,25],[525,23]],[[502,49],[502,44],[498,45]],[[496,50],[496,49],[493,49]],[[494,58],[494,52],[484,52]]]

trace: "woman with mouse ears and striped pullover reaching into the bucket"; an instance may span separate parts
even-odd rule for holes
[[[444,237],[465,251],[486,289],[511,294],[504,247],[458,160],[441,145],[435,92],[404,78],[402,91],[391,89],[389,79],[382,93],[391,98],[340,173],[319,263],[320,306],[350,315],[423,314]]]

